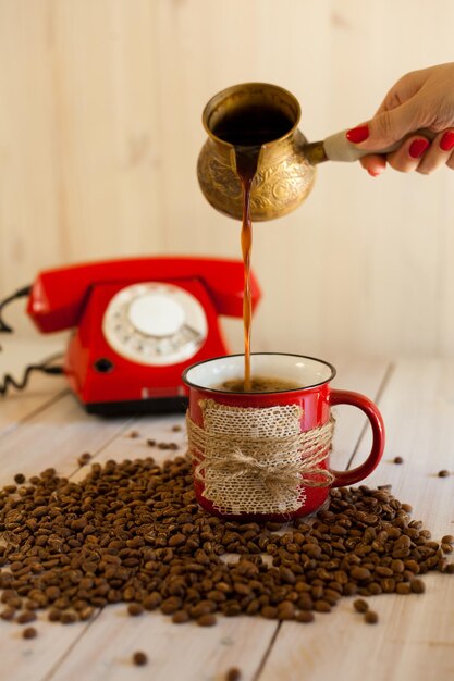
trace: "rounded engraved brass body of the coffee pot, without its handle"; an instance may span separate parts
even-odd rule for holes
[[[297,208],[309,194],[315,181],[314,163],[307,158],[307,140],[297,129],[300,108],[287,90],[263,83],[246,83],[222,90],[207,103],[203,123],[208,133],[198,158],[197,174],[201,191],[220,212],[241,220],[242,186],[236,174],[235,145],[218,131],[222,121],[242,111],[272,110],[287,122],[279,137],[260,145],[257,173],[250,193],[253,221],[273,220]],[[283,134],[282,134],[283,133]],[[247,147],[248,144],[242,143]]]

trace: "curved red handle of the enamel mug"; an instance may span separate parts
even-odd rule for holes
[[[366,461],[348,471],[331,470],[332,474],[335,476],[331,486],[343,487],[344,485],[352,485],[367,478],[378,466],[384,449],[384,423],[378,407],[360,393],[332,389],[330,405],[352,405],[353,407],[357,407],[367,416],[372,428],[372,447]]]

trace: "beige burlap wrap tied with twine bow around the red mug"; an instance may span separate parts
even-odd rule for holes
[[[242,512],[257,512],[257,499],[253,504],[249,498],[254,487],[255,496],[265,493],[267,497],[263,512],[270,512],[270,507],[290,510],[298,507],[302,487],[333,482],[334,475],[320,466],[331,448],[332,417],[321,426],[300,432],[297,405],[257,409],[203,400],[200,406],[204,429],[186,416],[189,454],[195,478],[204,483],[204,496],[216,506],[231,506],[229,486],[232,495],[241,495]],[[237,507],[237,503],[232,505]]]

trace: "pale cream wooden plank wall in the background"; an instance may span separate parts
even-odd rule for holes
[[[0,0],[0,297],[69,262],[240,257],[197,186],[206,101],[275,83],[322,138],[451,61],[453,25],[450,0]],[[302,208],[255,230],[253,349],[453,357],[453,189],[447,169],[321,166]],[[9,314],[35,333],[23,304]]]

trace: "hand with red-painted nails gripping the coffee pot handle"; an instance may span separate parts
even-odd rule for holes
[[[412,135],[419,128],[435,133],[432,141]],[[454,170],[454,62],[407,73],[391,88],[373,119],[349,129],[347,139],[370,150],[360,163],[380,175],[386,162],[403,173],[432,173],[443,164]],[[373,153],[406,139],[388,154]]]

